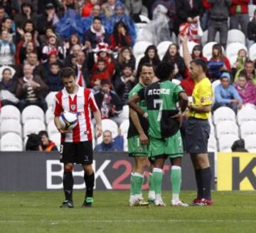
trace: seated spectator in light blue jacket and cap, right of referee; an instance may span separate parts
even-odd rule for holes
[[[242,108],[242,98],[235,87],[230,84],[230,74],[224,72],[220,77],[220,84],[215,88],[215,103],[213,109],[226,106],[232,108],[235,113]]]

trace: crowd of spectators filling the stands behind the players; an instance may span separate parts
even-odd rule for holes
[[[229,29],[245,36],[232,57],[227,55]],[[76,83],[95,93],[102,119],[121,125],[137,67],[146,62],[157,67],[161,60],[175,65],[176,82],[191,96],[195,84],[179,50],[179,33],[188,35],[192,57],[208,62],[214,110],[255,108],[256,63],[249,51],[256,42],[256,1],[250,0],[2,0],[1,107],[22,112],[36,105],[46,113],[46,96],[63,89],[60,69],[73,67]],[[206,57],[204,47],[215,38],[218,43]],[[149,45],[138,55],[142,40]],[[160,55],[162,41],[171,42]]]

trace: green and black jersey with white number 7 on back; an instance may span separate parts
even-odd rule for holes
[[[163,139],[178,132],[178,120],[171,116],[178,113],[176,106],[181,92],[182,87],[169,80],[156,82],[138,92],[142,101],[146,101],[150,137]]]

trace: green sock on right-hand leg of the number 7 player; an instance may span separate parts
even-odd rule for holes
[[[179,200],[179,193],[181,192],[181,167],[171,166],[171,189],[172,200]]]

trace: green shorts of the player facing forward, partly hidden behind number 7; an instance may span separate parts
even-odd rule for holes
[[[148,145],[142,144],[139,140],[139,135],[128,138],[129,156],[148,157]]]

